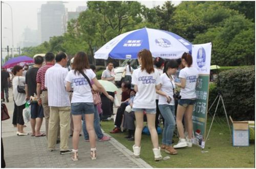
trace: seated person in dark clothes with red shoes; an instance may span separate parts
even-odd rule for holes
[[[123,82],[122,83],[122,99],[121,99],[122,102],[116,112],[115,128],[113,130],[111,130],[110,133],[121,132],[121,123],[122,123],[122,119],[123,119],[123,112],[125,110],[125,107],[127,105],[129,105],[130,92],[131,92],[131,83]],[[128,93],[129,93],[129,95],[128,95]]]

